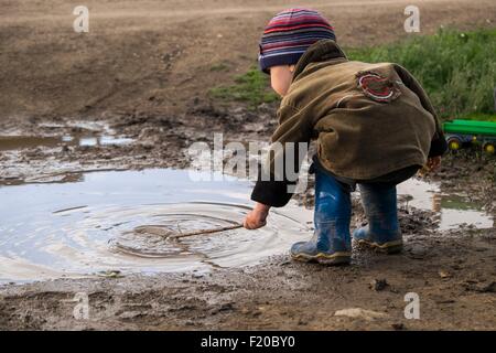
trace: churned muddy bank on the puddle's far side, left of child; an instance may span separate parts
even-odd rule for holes
[[[87,170],[185,168],[185,149],[212,142],[214,133],[223,133],[226,143],[268,140],[277,124],[274,111],[274,105],[254,111],[198,103],[179,116],[3,119],[0,183],[43,182]],[[107,143],[74,143],[77,136],[103,137]],[[50,138],[54,140],[44,143]]]

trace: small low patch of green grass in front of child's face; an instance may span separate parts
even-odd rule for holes
[[[251,67],[246,74],[236,76],[234,85],[212,88],[209,95],[225,100],[244,101],[251,108],[279,99],[270,88],[269,76],[257,67]]]

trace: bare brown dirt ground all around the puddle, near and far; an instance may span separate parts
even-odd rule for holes
[[[95,169],[186,168],[194,141],[266,140],[274,105],[249,110],[212,100],[208,88],[256,64],[266,22],[288,1],[86,1],[89,33],[73,31],[73,4],[0,0],[0,135],[100,135],[119,146],[2,150],[0,185],[56,181]],[[407,36],[410,1],[304,1],[321,10],[348,46]],[[422,34],[440,25],[494,26],[496,2],[419,2]],[[222,65],[225,69],[213,69]],[[85,124],[82,124],[85,122]],[[89,122],[89,124],[88,124]],[[1,143],[1,141],[0,141]],[[495,161],[445,158],[445,191],[464,191],[495,210]],[[310,197],[311,199],[311,197]],[[0,201],[1,202],[1,201]],[[308,204],[308,200],[302,200]],[[311,203],[311,202],[310,202]],[[354,224],[363,221],[355,205]],[[438,232],[431,215],[400,212],[406,249],[386,256],[354,249],[349,267],[295,264],[287,256],[211,274],[60,279],[0,287],[3,330],[495,330],[496,232]],[[0,235],[1,236],[1,235]],[[75,320],[75,293],[89,293],[88,320]],[[405,296],[420,297],[407,320]],[[337,310],[362,308],[356,318]]]

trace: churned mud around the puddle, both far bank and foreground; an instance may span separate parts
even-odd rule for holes
[[[13,132],[11,136],[109,135],[129,140],[90,146],[62,140],[55,146],[2,150],[2,183],[72,182],[77,179],[68,175],[104,168],[185,168],[188,161],[183,149],[198,140],[212,143],[213,132],[224,132],[226,141],[268,139],[276,124],[274,109],[262,106],[252,111],[198,103],[181,117],[118,116],[96,119],[89,126],[76,119],[50,118],[13,124],[10,130],[6,129]],[[460,194],[465,202],[477,203],[481,210],[494,214],[494,158],[465,151],[446,156],[443,167],[425,178],[439,183],[442,192]],[[311,208],[312,183],[295,201]],[[288,256],[279,255],[262,265],[211,268],[206,272],[126,274],[122,278],[110,272],[116,278],[7,285],[0,288],[0,327],[494,330],[494,312],[488,310],[496,300],[494,226],[477,229],[462,224],[441,232],[433,211],[409,203],[408,196],[400,197],[400,224],[407,245],[398,256],[357,248],[353,265],[344,268],[294,264]],[[359,201],[354,199],[353,227],[364,223]],[[420,296],[421,320],[405,319],[403,299],[411,291]],[[71,300],[77,292],[89,296],[89,320],[73,317],[75,302]],[[378,314],[370,318],[370,313],[362,311],[358,318],[334,315],[351,308]]]

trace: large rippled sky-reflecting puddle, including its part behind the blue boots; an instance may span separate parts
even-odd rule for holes
[[[183,234],[241,222],[250,210],[251,183],[203,176],[172,169],[98,171],[67,182],[0,185],[0,282],[255,265],[311,236],[312,212],[295,203],[274,210],[268,226],[257,231],[180,239],[155,232]],[[412,179],[398,189],[402,207],[434,211],[441,229],[494,226],[463,195],[442,195],[436,184]]]

